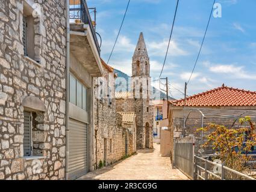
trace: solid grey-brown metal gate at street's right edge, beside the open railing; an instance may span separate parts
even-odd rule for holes
[[[193,179],[194,150],[194,137],[174,139],[173,166],[190,179]]]

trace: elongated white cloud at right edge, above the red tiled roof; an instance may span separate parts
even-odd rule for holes
[[[223,65],[217,64],[210,67],[210,71],[213,73],[229,74],[229,77],[234,79],[256,79],[254,74],[250,74],[244,70],[244,66],[237,67],[235,65]]]

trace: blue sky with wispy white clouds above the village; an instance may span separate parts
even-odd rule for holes
[[[87,0],[97,8],[97,32],[102,58],[107,61],[125,12],[125,0]],[[202,54],[188,94],[221,86],[256,91],[256,1],[219,0],[222,18],[211,18]],[[212,0],[180,0],[172,43],[163,77],[184,89],[204,35]],[[150,57],[151,77],[158,77],[164,61],[176,0],[131,0],[110,65],[131,74],[131,58],[142,31]],[[158,83],[157,83],[158,85]],[[155,86],[157,86],[155,85]],[[175,98],[183,95],[171,89]]]

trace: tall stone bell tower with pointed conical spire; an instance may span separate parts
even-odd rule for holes
[[[134,94],[134,111],[136,113],[137,149],[153,148],[153,113],[149,106],[151,91],[150,64],[142,32],[133,55],[132,68],[133,86],[131,91]]]

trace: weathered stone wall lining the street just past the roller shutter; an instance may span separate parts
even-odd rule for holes
[[[110,73],[105,71],[102,81],[108,82],[111,79]],[[94,79],[95,85],[99,85],[97,78]],[[114,82],[111,81],[110,82]],[[107,84],[105,84],[107,85]],[[98,98],[99,86],[95,86],[94,98],[94,169],[99,167],[100,162],[105,165],[112,164],[125,156],[125,134],[127,129],[122,127],[122,115],[116,113],[116,99],[114,98],[114,84],[111,86],[112,100],[108,103],[107,94],[102,99]],[[107,92],[104,86],[104,92]]]

